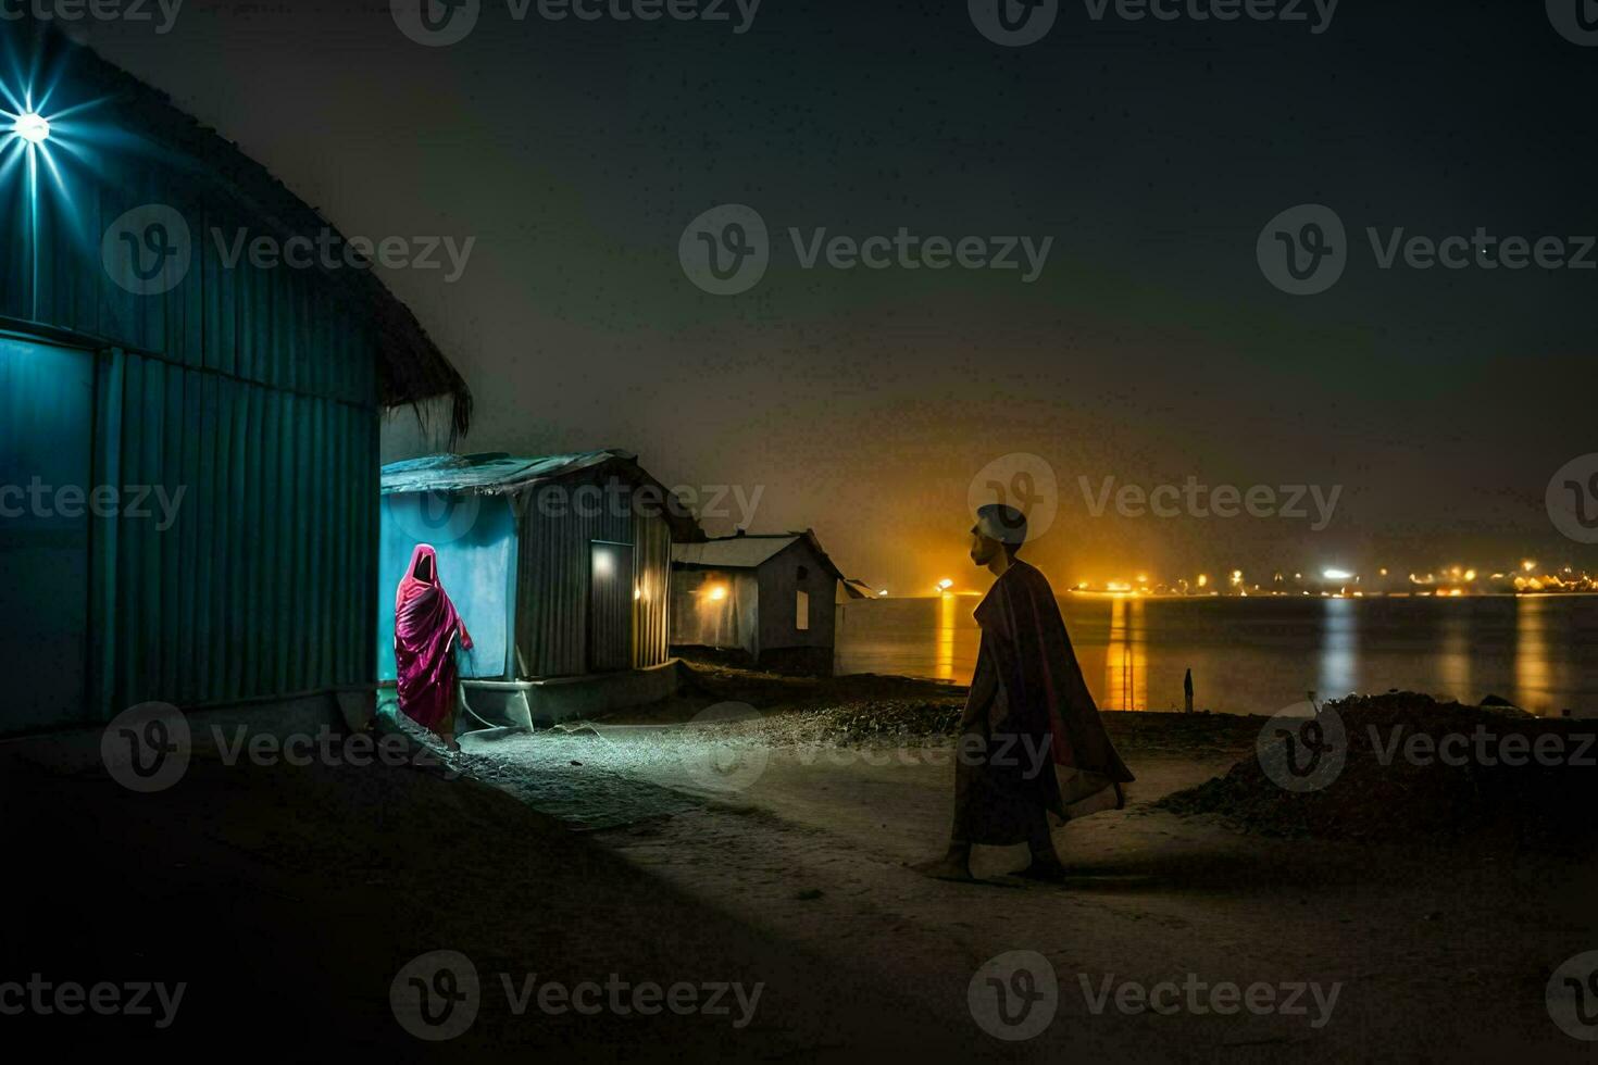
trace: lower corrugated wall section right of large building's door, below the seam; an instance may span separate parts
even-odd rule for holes
[[[120,351],[102,367],[102,481],[184,492],[165,532],[96,522],[102,706],[371,680],[372,410]]]

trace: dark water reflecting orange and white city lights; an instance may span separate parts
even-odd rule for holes
[[[967,683],[978,599],[858,600],[842,607],[839,672]],[[1537,714],[1598,715],[1598,597],[1061,599],[1088,687],[1106,709],[1194,706],[1274,714],[1389,688]]]

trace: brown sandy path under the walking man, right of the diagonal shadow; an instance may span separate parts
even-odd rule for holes
[[[687,896],[973,1028],[978,968],[1012,950],[1042,953],[1058,974],[1058,1014],[1032,1039],[989,1039],[1007,1055],[1587,1055],[1548,1020],[1544,985],[1560,961],[1598,945],[1577,902],[1595,885],[1590,869],[1245,838],[1147,808],[1229,758],[1143,757],[1131,808],[1058,833],[1069,885],[1004,878],[1024,848],[980,849],[976,872],[992,883],[949,885],[904,869],[936,853],[948,827],[952,770],[925,754],[775,749],[743,790],[601,837]],[[1294,985],[1318,984],[1322,1000],[1301,990],[1293,1016],[1221,1016],[1210,1006],[1227,1003],[1208,990],[1184,990],[1173,1014],[1091,1004],[1106,982],[1167,980],[1264,982],[1283,1004]]]

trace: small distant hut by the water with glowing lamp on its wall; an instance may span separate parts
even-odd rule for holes
[[[737,650],[762,669],[833,674],[844,575],[815,532],[681,543],[671,564],[673,645]]]

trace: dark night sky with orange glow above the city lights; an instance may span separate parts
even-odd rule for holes
[[[83,37],[345,233],[476,238],[452,284],[384,273],[471,383],[465,450],[623,447],[666,484],[762,487],[757,532],[812,525],[904,594],[978,584],[967,487],[1010,452],[1056,476],[1031,552],[1056,583],[1598,564],[1544,508],[1555,469],[1598,450],[1598,270],[1382,270],[1365,233],[1598,233],[1598,46],[1542,3],[1344,0],[1315,34],[1310,3],[1195,22],[1074,0],[1024,48],[964,0],[765,0],[745,34],[727,10],[518,22],[486,0],[465,42],[422,48],[387,3],[189,0],[166,35]],[[773,251],[716,297],[678,243],[724,203]],[[1349,236],[1312,297],[1256,262],[1302,203]],[[804,270],[789,227],[1053,246],[1032,284]],[[392,420],[387,458],[431,447]],[[1189,476],[1342,495],[1314,532],[1095,517],[1079,484]]]

